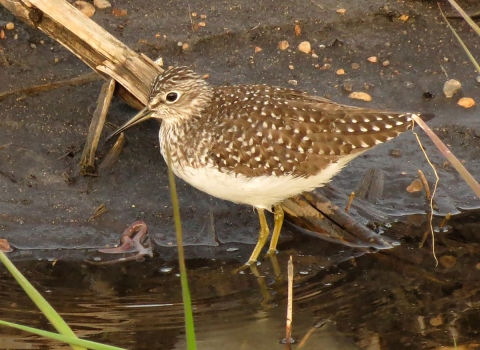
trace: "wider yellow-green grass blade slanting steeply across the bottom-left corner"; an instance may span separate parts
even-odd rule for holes
[[[42,311],[45,317],[52,323],[55,329],[63,335],[70,337],[76,337],[75,333],[70,329],[63,318],[53,309],[47,300],[28,282],[28,280],[22,275],[22,273],[12,264],[10,259],[4,252],[0,251],[0,261],[10,271],[15,280],[20,284],[25,293],[32,299],[37,307]],[[75,350],[83,350],[84,348],[73,346]]]

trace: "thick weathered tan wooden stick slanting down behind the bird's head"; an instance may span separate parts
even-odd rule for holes
[[[64,0],[0,0],[27,24],[58,41],[104,78],[120,83],[117,96],[135,108],[148,101],[162,69],[139,55]],[[120,79],[121,77],[121,79]]]

